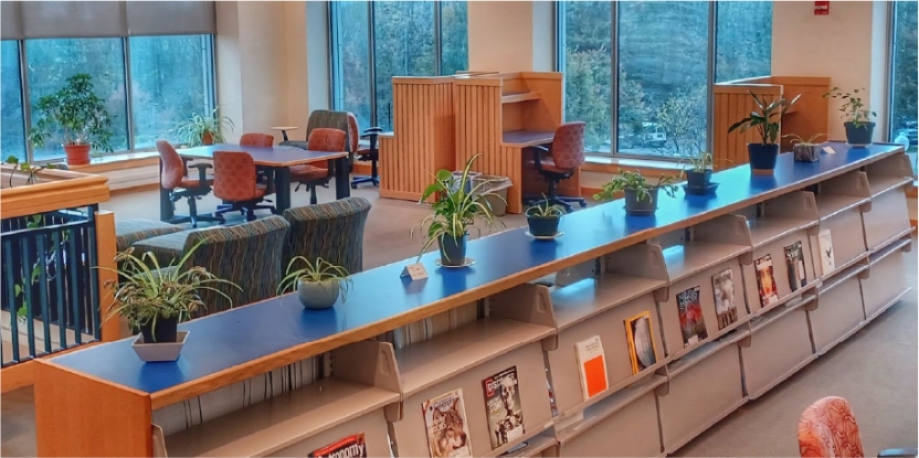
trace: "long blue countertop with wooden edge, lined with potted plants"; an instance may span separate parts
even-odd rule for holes
[[[717,195],[685,195],[682,189],[676,198],[662,193],[656,216],[627,217],[620,200],[567,215],[561,226],[566,234],[557,241],[534,241],[524,234],[525,228],[473,241],[468,254],[476,263],[469,268],[439,268],[434,265],[436,253],[430,253],[422,258],[430,276],[423,283],[409,284],[399,277],[402,267],[413,263],[414,258],[356,274],[347,301],[328,310],[304,310],[295,295],[286,295],[193,320],[180,326],[190,334],[176,362],[141,362],[130,348],[133,339],[94,345],[55,356],[52,361],[154,394],[295,345],[385,321],[548,263],[562,262],[615,243],[638,243],[649,237],[649,233],[642,236],[649,230],[677,230],[688,225],[685,220],[691,216],[727,213],[738,205],[760,202],[767,193],[800,189],[899,149],[883,145],[862,149],[849,149],[844,143],[833,143],[833,147],[837,153],[824,153],[821,161],[814,163],[794,162],[792,155],[782,155],[774,175],[751,175],[748,166],[715,173],[712,181],[720,183]],[[626,237],[628,239],[624,241]],[[573,264],[571,259],[570,264]],[[507,287],[528,281],[535,275],[526,277],[519,276]]]

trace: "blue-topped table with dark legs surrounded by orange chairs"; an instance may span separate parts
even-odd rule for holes
[[[291,167],[314,162],[329,161],[335,172],[335,198],[345,199],[351,195],[348,187],[348,153],[310,151],[294,147],[249,147],[241,145],[207,145],[179,150],[179,156],[188,159],[213,160],[214,151],[241,151],[252,156],[256,166],[272,170],[275,183],[275,213],[281,214],[291,207]],[[335,161],[332,163],[332,161]],[[162,170],[162,161],[160,161]],[[172,201],[169,200],[169,190],[160,187],[159,190],[159,214],[160,220],[170,221],[173,216]]]

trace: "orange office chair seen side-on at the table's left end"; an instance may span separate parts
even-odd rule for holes
[[[160,157],[160,185],[169,190],[172,209],[175,210],[179,199],[188,199],[188,216],[176,215],[169,222],[172,224],[191,223],[192,227],[198,227],[198,222],[223,223],[223,217],[220,215],[198,214],[198,201],[211,192],[213,180],[207,174],[211,164],[189,164],[189,159],[179,156],[176,148],[172,148],[172,145],[166,140],[157,140],[157,152]],[[188,166],[198,169],[197,180],[188,177]]]

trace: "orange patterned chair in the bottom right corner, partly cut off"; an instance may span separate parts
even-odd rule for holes
[[[864,457],[858,423],[848,401],[824,397],[801,414],[797,423],[797,446],[802,457]],[[915,457],[916,449],[889,449],[879,457]]]

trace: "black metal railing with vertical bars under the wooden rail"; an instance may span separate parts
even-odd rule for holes
[[[0,221],[2,366],[99,340],[96,210]]]

